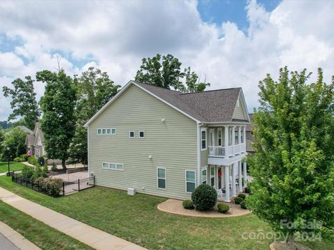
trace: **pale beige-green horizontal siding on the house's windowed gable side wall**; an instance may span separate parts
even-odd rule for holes
[[[97,135],[97,128],[116,128],[116,135]],[[185,170],[198,178],[197,126],[189,117],[132,85],[89,125],[88,136],[89,171],[97,185],[189,199]],[[102,169],[103,162],[122,163],[124,170]],[[157,167],[166,168],[166,190],[157,188]]]

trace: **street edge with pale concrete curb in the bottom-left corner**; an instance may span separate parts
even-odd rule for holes
[[[0,246],[1,250],[40,250],[39,247],[26,240],[26,238],[3,222],[0,222]]]

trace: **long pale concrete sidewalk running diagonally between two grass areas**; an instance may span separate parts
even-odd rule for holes
[[[1,201],[8,203],[17,210],[30,215],[31,217],[38,219],[40,222],[44,222],[52,228],[69,235],[70,237],[77,239],[84,244],[87,244],[94,249],[108,249],[108,250],[144,250],[132,242],[123,240],[109,233],[101,231],[93,226],[88,226],[75,219],[62,215],[54,210],[40,206],[38,203],[24,199],[13,192],[10,192],[4,188],[0,188]],[[50,239],[51,240],[51,239]]]

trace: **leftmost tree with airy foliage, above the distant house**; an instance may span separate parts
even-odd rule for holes
[[[31,76],[25,77],[26,81],[20,78],[15,79],[12,84],[14,89],[3,87],[3,96],[11,97],[10,106],[13,109],[8,117],[8,121],[15,119],[17,116],[24,118],[26,126],[33,129],[35,122],[40,117],[40,109],[36,101],[36,93],[33,89],[33,80]]]

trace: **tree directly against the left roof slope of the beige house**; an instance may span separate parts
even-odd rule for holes
[[[77,124],[70,146],[70,156],[74,160],[86,163],[87,129],[84,124],[97,113],[115,94],[120,85],[115,85],[106,72],[90,67],[77,79],[77,106],[75,114]]]

